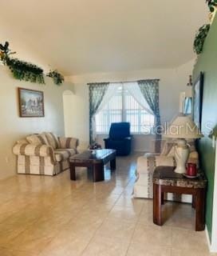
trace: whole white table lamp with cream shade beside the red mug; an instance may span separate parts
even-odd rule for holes
[[[171,124],[167,127],[164,138],[176,139],[175,146],[175,160],[176,169],[178,174],[186,173],[186,163],[190,154],[189,146],[186,139],[202,138],[199,128],[190,116],[180,114],[172,120]]]

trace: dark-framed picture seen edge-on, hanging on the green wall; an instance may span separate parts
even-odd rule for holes
[[[193,119],[199,129],[201,128],[202,101],[203,73],[200,72],[199,77],[195,80],[193,84]]]

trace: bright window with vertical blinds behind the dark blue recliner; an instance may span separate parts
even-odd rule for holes
[[[96,115],[97,134],[109,134],[112,122],[130,122],[132,134],[150,134],[154,115],[144,110],[123,86],[119,86],[106,106]]]

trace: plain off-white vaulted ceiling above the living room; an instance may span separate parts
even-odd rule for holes
[[[205,22],[205,0],[1,0],[0,34],[20,58],[75,75],[180,66]]]

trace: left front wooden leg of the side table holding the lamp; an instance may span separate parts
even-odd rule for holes
[[[161,187],[160,185],[153,184],[153,222],[162,226],[161,217]]]

